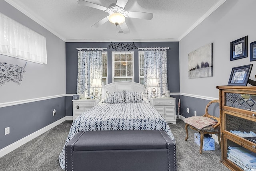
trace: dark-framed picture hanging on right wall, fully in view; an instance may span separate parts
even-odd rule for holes
[[[230,61],[247,57],[248,35],[230,42]]]

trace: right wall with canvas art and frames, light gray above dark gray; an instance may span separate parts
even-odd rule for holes
[[[184,116],[202,110],[209,100],[218,99],[217,85],[227,85],[232,67],[254,64],[250,79],[255,80],[256,61],[250,62],[250,42],[256,41],[255,0],[227,0],[188,35],[180,40],[180,92]],[[230,61],[230,42],[248,35],[248,57]],[[213,43],[213,77],[188,78],[188,53]],[[186,96],[202,96],[203,100]],[[199,97],[200,98],[200,97]],[[201,102],[205,101],[205,102]],[[194,103],[196,102],[196,103]],[[190,107],[190,113],[186,108]]]

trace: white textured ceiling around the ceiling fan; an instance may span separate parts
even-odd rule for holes
[[[152,20],[126,18],[130,33],[118,33],[110,22],[91,27],[107,12],[76,0],[5,0],[68,41],[179,41],[226,0],[129,0],[126,11],[153,13]],[[116,0],[87,0],[109,7]],[[120,27],[118,26],[118,30]]]

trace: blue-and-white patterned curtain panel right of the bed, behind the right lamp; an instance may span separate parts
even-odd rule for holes
[[[145,50],[144,51],[144,79],[145,96],[153,96],[152,87],[148,87],[150,78],[157,78],[159,87],[156,87],[156,96],[166,93],[167,86],[167,59],[166,50]]]

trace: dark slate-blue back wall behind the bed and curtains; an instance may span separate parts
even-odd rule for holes
[[[119,42],[118,42],[119,43]],[[132,43],[132,42],[120,42]],[[108,47],[110,42],[67,42],[66,43],[66,92],[76,93],[77,81],[77,63],[78,63],[78,50],[77,47]],[[179,86],[179,43],[178,42],[135,42],[137,47],[170,47],[167,50],[167,77],[168,77],[168,90],[170,92],[180,92]],[[112,51],[114,49],[104,50],[108,52],[108,83],[112,83]],[[134,81],[139,82],[138,79],[138,49],[134,51]],[[72,98],[67,100],[67,116],[72,115]]]

